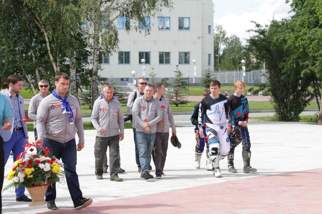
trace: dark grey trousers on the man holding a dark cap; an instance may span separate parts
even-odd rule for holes
[[[162,141],[161,141],[162,138]],[[154,151],[152,151],[152,158],[156,167],[156,175],[163,173],[163,168],[166,163],[166,152],[168,151],[169,132],[156,132],[156,139],[154,141]]]

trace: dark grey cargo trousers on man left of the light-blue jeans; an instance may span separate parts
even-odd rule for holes
[[[118,176],[118,152],[119,152],[119,138],[118,135],[111,137],[96,136],[96,143],[94,145],[95,156],[95,174],[103,175],[103,160],[109,147],[109,174],[110,179]]]

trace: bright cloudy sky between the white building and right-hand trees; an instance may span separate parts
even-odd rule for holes
[[[274,17],[276,20],[289,17],[292,13],[289,4],[285,0],[212,0],[213,1],[213,22],[214,26],[223,25],[227,36],[236,34],[243,44],[245,38],[252,33],[246,30],[254,29],[254,24],[269,24]]]

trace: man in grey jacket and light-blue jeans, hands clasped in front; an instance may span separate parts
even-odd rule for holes
[[[144,96],[136,99],[133,104],[133,119],[136,122],[136,136],[141,165],[141,177],[153,178],[150,175],[149,165],[153,144],[156,137],[156,123],[161,120],[161,103],[153,97],[153,85],[144,87]]]

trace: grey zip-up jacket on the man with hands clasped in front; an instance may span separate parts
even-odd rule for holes
[[[150,124],[151,133],[156,133],[156,123],[161,120],[161,103],[155,97],[151,97],[149,101],[142,96],[137,98],[133,104],[133,119],[136,121],[136,131],[149,133],[142,128],[144,120]]]

